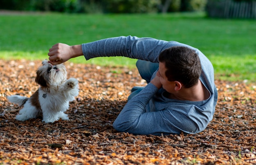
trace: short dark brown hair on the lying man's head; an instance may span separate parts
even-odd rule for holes
[[[198,83],[202,68],[195,50],[183,46],[170,47],[162,51],[158,58],[159,62],[165,63],[168,81],[179,81],[185,88]]]

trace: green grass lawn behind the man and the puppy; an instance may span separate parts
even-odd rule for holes
[[[0,15],[0,58],[43,60],[57,42],[76,45],[115,37],[176,40],[200,49],[213,63],[216,78],[256,78],[256,20],[206,18],[204,13]],[[129,58],[83,57],[72,62],[128,65]]]

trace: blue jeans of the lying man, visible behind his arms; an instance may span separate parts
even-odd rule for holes
[[[136,67],[142,79],[146,80],[147,83],[150,82],[152,75],[158,69],[159,63],[137,60]],[[132,93],[128,96],[130,100],[133,96],[137,95],[144,87],[133,87]]]

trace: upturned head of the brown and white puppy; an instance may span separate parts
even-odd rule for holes
[[[44,60],[36,71],[35,82],[42,87],[57,86],[67,78],[67,71],[63,64],[52,65]]]

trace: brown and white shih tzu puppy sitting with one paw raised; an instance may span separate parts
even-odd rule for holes
[[[35,82],[39,89],[30,97],[19,95],[7,96],[11,103],[23,106],[17,120],[25,121],[43,115],[45,123],[53,123],[60,118],[68,120],[64,112],[69,108],[69,102],[79,94],[78,80],[67,78],[67,71],[63,64],[52,65],[44,60],[36,71]]]

